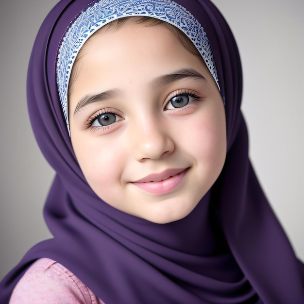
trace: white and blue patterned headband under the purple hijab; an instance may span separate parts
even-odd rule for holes
[[[68,123],[68,83],[73,63],[85,41],[107,23],[122,17],[146,16],[168,22],[193,42],[219,86],[211,47],[198,20],[171,0],[100,0],[92,2],[71,24],[63,37],[57,58],[57,86],[63,113]]]

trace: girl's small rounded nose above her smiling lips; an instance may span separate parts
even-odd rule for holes
[[[132,152],[137,161],[159,159],[174,151],[175,145],[169,130],[157,119],[144,119],[135,124],[130,133]]]

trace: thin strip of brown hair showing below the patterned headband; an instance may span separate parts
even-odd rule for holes
[[[163,20],[159,20],[153,17],[146,17],[146,16],[141,16],[141,17],[123,17],[123,18],[119,18],[116,20],[113,20],[111,22],[109,22],[108,24],[104,25],[103,27],[101,27],[96,33],[94,33],[90,38],[88,38],[88,40],[84,43],[84,46],[81,48],[81,50],[79,51],[72,71],[71,71],[71,76],[70,76],[70,80],[69,80],[69,84],[68,84],[68,96],[70,95],[72,89],[73,89],[73,84],[76,81],[77,75],[80,72],[80,69],[82,67],[81,65],[81,59],[84,56],[84,54],[86,53],[86,48],[85,46],[87,46],[92,37],[96,37],[99,36],[101,34],[104,34],[105,32],[109,32],[109,31],[117,31],[119,30],[123,25],[127,24],[127,23],[134,23],[134,24],[140,24],[143,26],[157,26],[157,25],[162,25],[165,28],[167,28],[171,33],[173,33],[175,35],[175,37],[179,40],[179,42],[186,48],[187,51],[189,51],[190,53],[192,53],[195,56],[198,56],[202,61],[202,56],[199,53],[199,51],[197,50],[197,48],[195,47],[195,45],[192,43],[192,41],[186,36],[186,34],[184,34],[180,29],[178,29],[176,26],[163,21]]]

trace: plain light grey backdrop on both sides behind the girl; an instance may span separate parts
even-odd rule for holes
[[[31,246],[51,237],[42,208],[54,172],[32,135],[25,83],[34,37],[56,2],[0,3],[0,278]],[[214,2],[241,53],[254,168],[304,259],[304,1]]]

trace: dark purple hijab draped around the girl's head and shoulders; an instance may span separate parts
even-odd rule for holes
[[[4,278],[0,303],[41,257],[67,267],[106,304],[304,303],[303,267],[248,159],[236,43],[209,0],[176,2],[207,33],[226,102],[228,149],[219,179],[191,214],[169,224],[118,211],[87,185],[62,115],[55,61],[70,22],[89,2],[60,1],[34,44],[28,105],[40,149],[57,172],[44,210],[54,238],[34,246]]]

